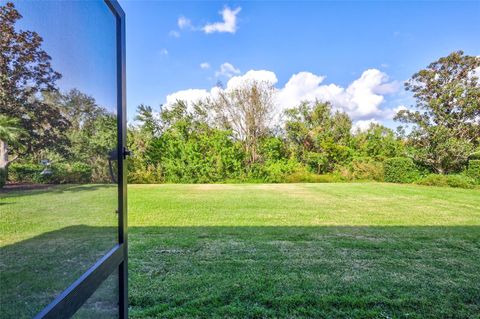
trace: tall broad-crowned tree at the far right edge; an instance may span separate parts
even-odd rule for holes
[[[479,68],[480,57],[453,52],[405,84],[416,106],[395,119],[411,125],[415,159],[438,173],[461,169],[480,143]]]

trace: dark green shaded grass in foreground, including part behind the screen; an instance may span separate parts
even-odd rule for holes
[[[0,318],[30,318],[113,246],[72,226],[0,248]],[[480,227],[133,227],[132,318],[474,318]],[[115,280],[82,318],[108,318]]]

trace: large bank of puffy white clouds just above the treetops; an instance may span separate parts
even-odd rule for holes
[[[227,66],[228,65],[228,66]],[[229,63],[224,63],[217,75],[229,78],[225,90],[232,90],[249,81],[268,82],[276,86],[277,113],[287,108],[297,106],[302,101],[329,101],[335,110],[346,112],[354,121],[355,128],[368,127],[372,121],[392,118],[404,106],[395,109],[382,108],[385,95],[398,91],[400,86],[395,81],[389,81],[388,76],[377,70],[368,69],[346,87],[337,84],[324,84],[326,77],[311,72],[299,72],[290,77],[283,87],[278,87],[276,74],[268,70],[250,70],[240,75],[240,70]],[[236,74],[234,76],[234,74]],[[167,96],[167,104],[177,99],[189,103],[215,96],[220,88],[210,90],[184,90]]]

